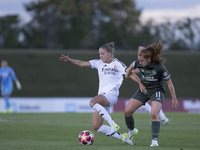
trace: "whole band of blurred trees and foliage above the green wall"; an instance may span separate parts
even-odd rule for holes
[[[114,41],[117,50],[164,39],[166,50],[200,51],[200,18],[140,22],[134,0],[38,0],[24,4],[32,20],[0,17],[0,49],[97,49]]]

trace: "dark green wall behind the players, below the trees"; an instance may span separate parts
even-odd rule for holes
[[[79,60],[99,59],[96,51],[1,50],[0,60],[6,59],[22,84],[16,86],[13,97],[93,97],[98,91],[96,69],[79,68],[59,61],[60,54]],[[165,66],[172,76],[178,98],[200,98],[200,53],[165,52]],[[136,52],[116,51],[115,57],[129,66],[137,59]],[[125,79],[120,97],[129,98],[138,84]],[[166,98],[170,98],[166,88]]]

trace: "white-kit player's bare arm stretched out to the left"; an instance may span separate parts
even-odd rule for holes
[[[81,60],[71,59],[71,58],[69,58],[68,55],[65,56],[64,54],[61,54],[60,60],[64,61],[64,62],[69,62],[78,67],[91,67],[91,64],[89,61],[81,61]]]

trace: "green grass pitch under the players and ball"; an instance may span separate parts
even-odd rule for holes
[[[92,129],[92,113],[16,113],[0,114],[1,150],[199,150],[199,115],[166,113],[170,123],[161,126],[159,147],[150,147],[151,125],[149,114],[134,114],[139,133],[134,138],[136,145],[122,143]],[[120,125],[120,133],[127,132],[124,114],[112,113]],[[78,135],[91,130],[95,141],[91,146],[81,145]]]

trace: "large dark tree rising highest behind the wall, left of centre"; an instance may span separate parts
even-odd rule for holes
[[[33,14],[23,30],[26,43],[49,49],[96,48],[111,40],[130,48],[140,15],[132,0],[43,0],[25,7]]]

